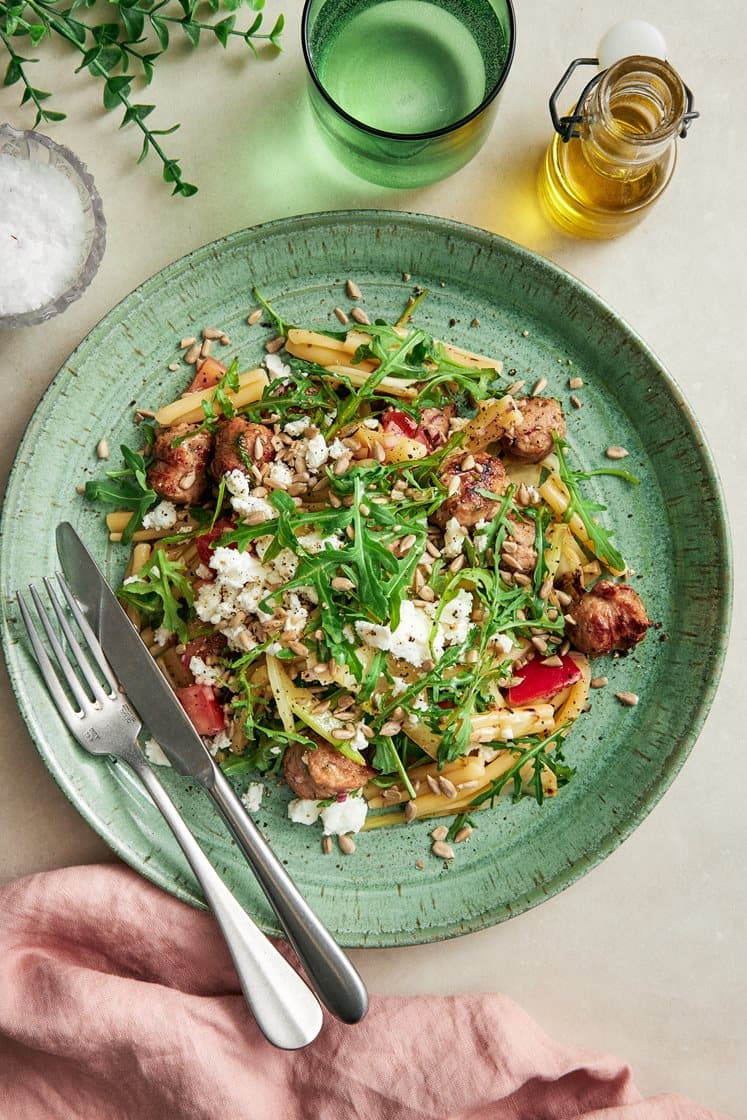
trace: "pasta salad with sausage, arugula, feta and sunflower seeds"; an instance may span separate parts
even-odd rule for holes
[[[327,850],[452,818],[450,859],[502,793],[570,780],[590,659],[650,620],[560,401],[432,338],[417,304],[339,332],[263,304],[274,336],[246,372],[186,339],[186,392],[85,492],[116,507],[121,600],[221,765],[282,777]]]

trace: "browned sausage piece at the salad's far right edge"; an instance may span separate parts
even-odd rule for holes
[[[575,619],[567,624],[569,637],[590,657],[633,648],[651,625],[637,591],[609,579],[598,580],[569,609]]]

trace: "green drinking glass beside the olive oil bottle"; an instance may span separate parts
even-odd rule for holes
[[[443,179],[485,142],[514,41],[512,0],[306,0],[321,136],[371,183]]]

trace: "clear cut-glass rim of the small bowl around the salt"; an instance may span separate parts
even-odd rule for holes
[[[85,223],[85,236],[75,276],[67,288],[40,307],[0,315],[0,330],[30,327],[52,319],[80,299],[99,270],[106,248],[106,221],[101,197],[84,164],[73,152],[40,132],[0,125],[0,155],[54,167],[75,187]]]

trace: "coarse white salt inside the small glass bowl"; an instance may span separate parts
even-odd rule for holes
[[[0,315],[44,307],[75,279],[83,205],[56,167],[0,156]]]

